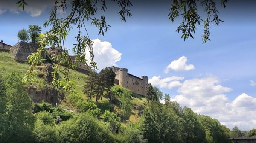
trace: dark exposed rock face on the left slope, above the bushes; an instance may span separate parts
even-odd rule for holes
[[[41,103],[46,101],[51,103],[53,106],[59,104],[61,100],[64,99],[64,94],[61,91],[57,91],[53,86],[47,85],[45,89],[40,90],[34,86],[27,88],[27,92],[35,103]]]

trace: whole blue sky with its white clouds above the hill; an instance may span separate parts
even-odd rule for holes
[[[17,43],[18,31],[28,29],[28,25],[40,25],[42,32],[49,30],[43,23],[54,2],[27,2],[23,12],[15,0],[0,1],[0,18],[4,19],[0,40],[4,43]],[[211,41],[207,43],[202,43],[201,26],[197,26],[194,39],[181,39],[181,33],[175,32],[181,17],[174,23],[168,20],[171,1],[132,3],[129,9],[133,16],[122,22],[120,8],[107,2],[105,17],[111,27],[105,37],[85,22],[98,69],[128,68],[130,74],[148,76],[149,82],[169,94],[172,101],[216,118],[230,130],[235,125],[242,131],[256,128],[256,1],[230,1],[225,9],[216,1],[224,22],[210,25]],[[200,7],[198,12],[205,18]],[[58,10],[58,17],[67,13]],[[73,48],[76,34],[73,26],[66,47]]]

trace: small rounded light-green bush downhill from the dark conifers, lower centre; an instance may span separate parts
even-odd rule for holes
[[[114,112],[105,111],[103,114],[104,122],[107,122],[109,129],[112,133],[118,133],[120,130],[120,117]]]

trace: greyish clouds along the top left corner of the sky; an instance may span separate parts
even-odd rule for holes
[[[17,1],[12,0],[3,0],[0,1],[0,14],[5,13],[9,10],[9,12],[14,14],[19,14],[20,12],[23,12],[20,8],[18,8],[18,4],[16,4]],[[54,1],[52,0],[29,0],[26,1],[28,5],[24,6],[24,11],[29,13],[30,16],[36,17],[41,15],[41,13],[47,8],[47,7],[53,7]],[[60,5],[60,4],[59,4]],[[58,13],[63,13],[63,10],[57,9]]]

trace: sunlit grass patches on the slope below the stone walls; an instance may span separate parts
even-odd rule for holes
[[[38,66],[38,67],[41,67],[41,66]],[[3,76],[7,76],[11,72],[17,72],[21,75],[24,75],[28,68],[29,68],[28,64],[16,62],[14,60],[14,57],[11,54],[6,52],[0,52],[0,74],[2,74]],[[63,67],[61,67],[61,69],[63,69]],[[45,73],[42,73],[41,71],[37,70],[38,76],[36,78],[36,82],[34,83],[34,85],[28,84],[26,86],[35,86],[38,89],[44,88],[45,85],[48,83],[45,82],[43,77],[42,78],[39,77],[40,74],[45,74]],[[64,74],[62,72],[59,72],[59,76],[63,78]],[[70,69],[70,80],[73,80],[75,82],[75,85],[76,85],[75,91],[78,93],[79,97],[82,97],[84,99],[88,99],[87,95],[83,93],[83,85],[85,85],[86,77],[87,75],[77,72],[76,70]],[[115,86],[119,86],[119,85],[115,85]],[[67,97],[68,95],[65,95],[65,98],[64,100],[61,101],[60,106],[62,108],[68,108],[76,111],[76,107],[72,106],[69,98]],[[131,100],[134,104],[134,109],[133,109],[133,114],[130,116],[129,120],[131,122],[138,122],[139,116],[137,115],[138,113],[137,108],[145,107],[146,99],[142,95],[133,94],[133,96],[131,97]],[[93,98],[93,101],[95,101],[95,98]],[[110,99],[105,95],[103,96],[102,100],[99,100],[96,104],[101,106],[101,104],[104,104],[104,103],[110,103]],[[114,107],[114,110],[118,113],[119,104],[114,103],[112,104],[112,106]]]

